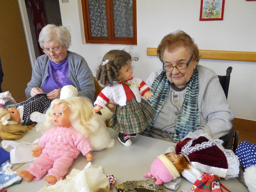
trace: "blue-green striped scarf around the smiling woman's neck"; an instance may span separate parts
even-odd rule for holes
[[[156,121],[159,111],[164,105],[164,102],[170,91],[169,80],[166,77],[165,71],[162,71],[151,85],[150,91],[154,94],[148,101],[149,105],[156,111],[156,116],[151,124],[141,132],[142,135],[149,135]],[[178,116],[173,141],[179,142],[188,132],[194,131],[200,126],[199,110],[197,106],[198,98],[198,71],[197,68],[190,78],[186,88],[185,99]]]

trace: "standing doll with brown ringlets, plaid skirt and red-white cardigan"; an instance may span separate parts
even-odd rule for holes
[[[138,59],[138,58],[137,58]],[[96,79],[106,86],[94,102],[93,113],[104,108],[109,100],[117,104],[109,126],[119,132],[118,140],[126,147],[132,144],[131,137],[145,130],[155,112],[148,103],[141,99],[150,99],[148,85],[132,76],[132,57],[123,50],[111,50],[105,54],[97,70]]]

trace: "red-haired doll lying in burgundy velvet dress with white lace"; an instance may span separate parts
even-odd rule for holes
[[[222,143],[222,140],[213,140],[207,133],[193,136],[189,132],[175,148],[168,148],[166,155],[180,173],[187,170],[189,165],[200,172],[213,173],[221,178],[237,177],[238,157],[232,150],[223,148]]]

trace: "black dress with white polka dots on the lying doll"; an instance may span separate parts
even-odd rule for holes
[[[23,106],[23,123],[22,125],[31,125],[36,122],[30,120],[30,115],[37,111],[40,113],[45,113],[46,110],[50,107],[52,100],[47,99],[46,93],[39,93],[29,98],[26,101],[23,101],[17,105],[14,105],[13,108],[18,108],[19,106]]]

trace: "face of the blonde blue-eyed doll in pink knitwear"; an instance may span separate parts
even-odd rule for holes
[[[65,110],[60,108],[60,104],[56,105],[53,109],[52,123],[55,126],[71,127],[70,115],[71,110],[67,107]]]

